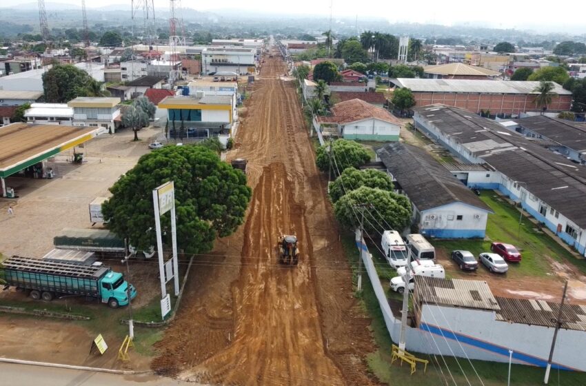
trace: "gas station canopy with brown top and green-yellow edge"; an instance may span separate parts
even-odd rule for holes
[[[37,179],[51,179],[53,172],[47,159],[65,150],[74,150],[72,162],[83,160],[83,153],[75,147],[97,136],[99,128],[69,125],[30,125],[12,123],[0,128],[0,185],[1,196],[15,198],[14,189],[6,185],[6,178],[14,174]]]

